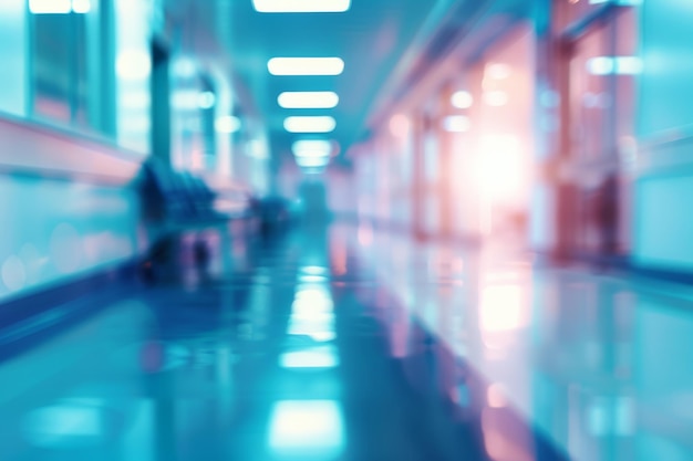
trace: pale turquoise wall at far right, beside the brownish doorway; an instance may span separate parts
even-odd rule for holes
[[[693,270],[693,3],[643,2],[633,258]]]

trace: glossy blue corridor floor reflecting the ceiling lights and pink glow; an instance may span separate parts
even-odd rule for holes
[[[693,459],[689,287],[365,224],[180,248],[0,363],[0,460]]]

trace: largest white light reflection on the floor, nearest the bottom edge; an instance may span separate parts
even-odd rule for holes
[[[342,410],[334,400],[282,400],[270,417],[269,447],[294,457],[337,458],[344,448]]]

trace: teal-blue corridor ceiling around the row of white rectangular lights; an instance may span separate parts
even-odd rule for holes
[[[169,13],[184,24],[183,46],[224,62],[236,80],[241,105],[268,128],[272,151],[286,155],[306,135],[289,134],[290,115],[332,115],[329,135],[341,151],[364,135],[365,121],[389,76],[441,3],[451,0],[352,0],[343,13],[258,13],[251,0],[172,0]],[[338,76],[273,76],[275,56],[339,56]],[[333,91],[332,109],[286,109],[277,96],[286,91]]]

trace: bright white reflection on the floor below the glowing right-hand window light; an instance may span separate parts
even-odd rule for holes
[[[493,285],[482,292],[480,325],[485,332],[507,332],[525,324],[520,285]]]

